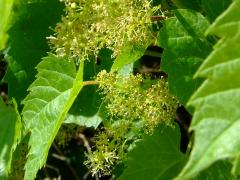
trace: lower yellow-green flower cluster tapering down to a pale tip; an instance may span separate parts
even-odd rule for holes
[[[123,78],[103,70],[96,81],[105,95],[109,120],[96,136],[94,151],[87,154],[85,164],[93,175],[101,176],[110,175],[112,167],[124,160],[130,144],[143,134],[151,134],[160,123],[171,126],[178,101],[164,78],[152,82],[140,74]]]

